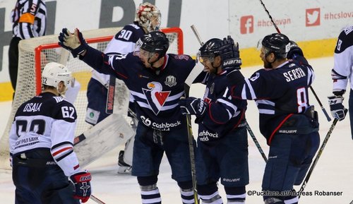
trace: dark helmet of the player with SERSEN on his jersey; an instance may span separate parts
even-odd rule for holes
[[[280,33],[273,33],[266,35],[262,41],[263,47],[268,49],[268,53],[273,52],[276,58],[284,59],[289,52],[290,42],[286,35]]]

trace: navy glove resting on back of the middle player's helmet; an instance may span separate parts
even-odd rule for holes
[[[237,68],[240,69],[241,59],[239,57],[239,46],[238,43],[234,44],[234,40],[230,35],[227,38],[223,38],[223,42],[220,47],[220,56],[222,57],[222,68]]]

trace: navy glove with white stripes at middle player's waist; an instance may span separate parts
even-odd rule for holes
[[[203,116],[205,114],[206,107],[208,104],[196,97],[182,97],[179,100],[179,105],[181,109],[181,114],[189,114],[196,116]]]

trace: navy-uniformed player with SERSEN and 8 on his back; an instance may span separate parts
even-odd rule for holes
[[[256,101],[260,131],[270,145],[264,202],[298,203],[293,186],[303,181],[320,143],[317,113],[309,104],[313,68],[286,35],[267,35],[261,44],[264,68],[249,79],[239,70],[228,74],[232,97]]]

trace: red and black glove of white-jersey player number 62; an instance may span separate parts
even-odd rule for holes
[[[70,179],[75,185],[75,193],[73,198],[79,199],[82,203],[87,202],[90,198],[90,180],[89,172],[78,172],[70,176]]]

